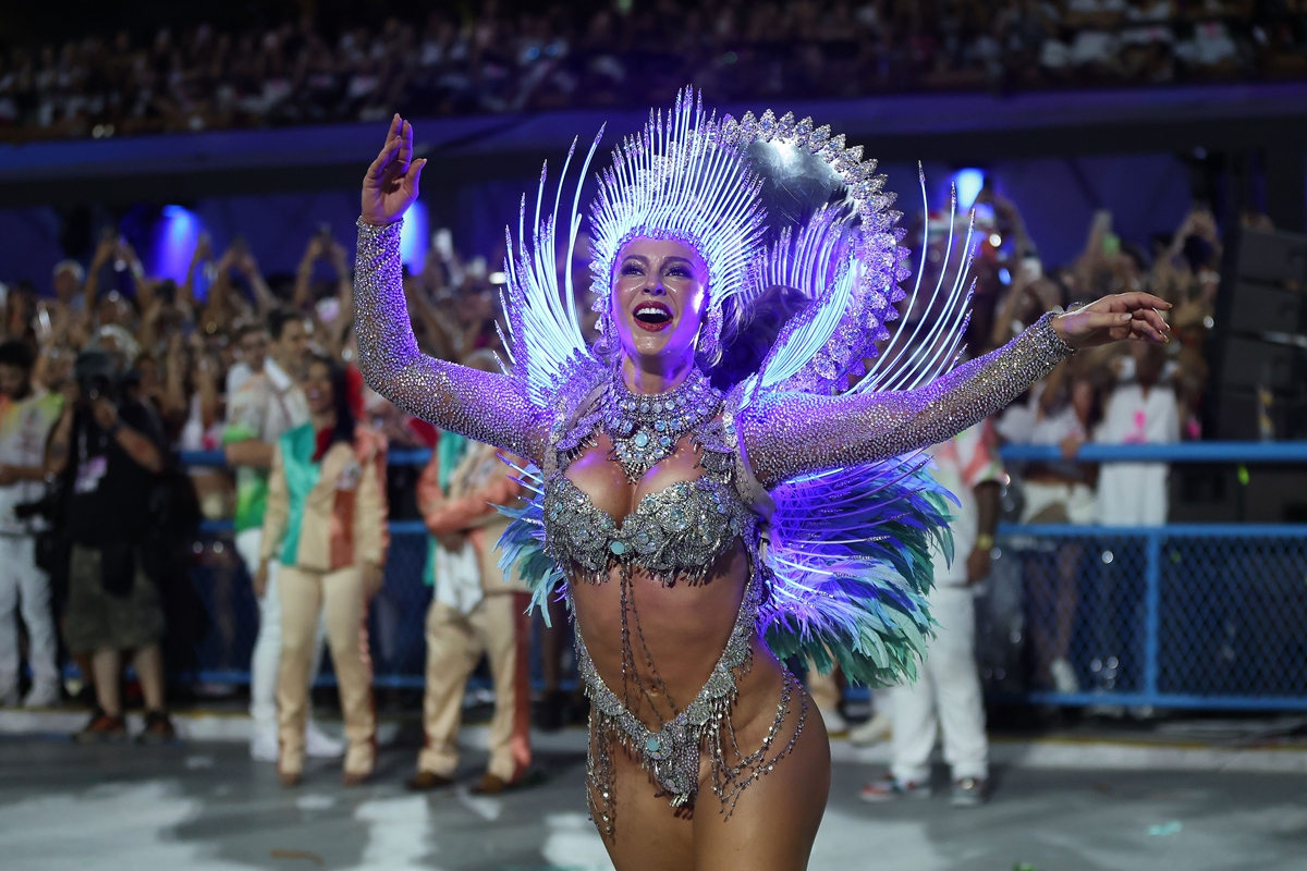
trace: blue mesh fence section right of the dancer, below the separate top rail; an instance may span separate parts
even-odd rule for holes
[[[1063,649],[1027,649],[1031,686],[1000,695],[1307,710],[1307,525],[1005,524],[999,531],[1006,563],[999,575],[1019,585],[1022,635],[1057,635],[1073,611]],[[1074,602],[1063,593],[1050,603],[1056,594],[1040,593],[1069,571]],[[1080,691],[1039,686],[1055,658],[1072,665]]]

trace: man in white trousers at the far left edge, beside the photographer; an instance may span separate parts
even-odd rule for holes
[[[14,508],[44,494],[46,439],[59,420],[63,398],[33,390],[35,358],[21,341],[0,345],[0,705],[18,701],[18,624],[27,627],[31,689],[27,708],[59,703],[55,665],[55,616],[50,576],[37,567],[37,520],[20,520]]]

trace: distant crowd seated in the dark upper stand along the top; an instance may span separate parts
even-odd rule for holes
[[[485,0],[0,48],[0,137],[1307,74],[1303,0]]]

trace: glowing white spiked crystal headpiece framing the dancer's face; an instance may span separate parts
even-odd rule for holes
[[[716,346],[721,303],[754,285],[765,249],[762,183],[720,132],[694,89],[682,90],[665,118],[651,111],[644,131],[613,150],[591,210],[591,272],[595,287],[605,289],[596,303],[601,313],[609,311],[617,255],[631,239],[674,239],[703,257],[710,334],[701,350]]]

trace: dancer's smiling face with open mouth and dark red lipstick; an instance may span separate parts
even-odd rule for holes
[[[708,268],[682,242],[633,239],[617,256],[613,323],[631,358],[694,355],[707,303]]]

